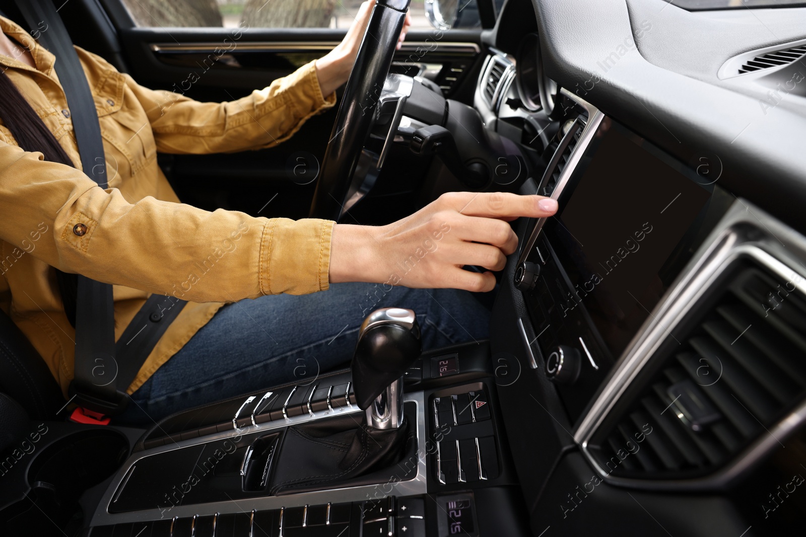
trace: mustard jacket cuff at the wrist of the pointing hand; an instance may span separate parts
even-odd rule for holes
[[[335,222],[272,218],[260,242],[260,291],[305,295],[330,287],[330,238]]]

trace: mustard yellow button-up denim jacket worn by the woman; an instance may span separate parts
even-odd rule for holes
[[[36,64],[0,55],[0,68],[76,165],[23,151],[0,122],[0,308],[44,357],[65,394],[73,378],[75,332],[52,267],[114,284],[116,339],[150,293],[190,301],[148,356],[130,394],[223,303],[327,289],[333,222],[210,213],[181,204],[156,162],[158,151],[256,150],[289,138],[335,103],[334,95],[322,97],[313,62],[248,97],[202,103],[143,88],[76,48],[101,123],[109,180],[103,190],[81,172],[56,58],[10,20],[0,17],[0,28],[29,48]],[[86,233],[74,233],[77,224],[86,225]]]

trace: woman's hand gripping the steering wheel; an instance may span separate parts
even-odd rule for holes
[[[350,76],[352,66],[355,63],[355,56],[358,55],[358,49],[361,46],[361,39],[364,38],[364,32],[367,31],[367,24],[369,23],[369,15],[372,14],[372,8],[375,6],[375,0],[364,2],[358,10],[358,15],[355,17],[355,22],[347,31],[339,45],[332,51],[328,52],[326,56],[316,60],[316,73],[319,78],[319,87],[322,88],[322,95],[328,96],[333,93],[340,85],[347,82]],[[411,19],[409,14],[406,14],[403,23],[403,30],[400,37],[397,39],[397,48],[401,48],[403,39],[405,39],[406,32],[409,31],[411,26]]]

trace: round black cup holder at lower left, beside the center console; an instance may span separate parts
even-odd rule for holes
[[[60,496],[81,494],[117,472],[128,454],[129,441],[113,429],[73,432],[35,455],[28,483]]]

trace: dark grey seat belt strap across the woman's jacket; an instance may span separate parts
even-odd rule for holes
[[[107,188],[98,112],[67,28],[50,0],[16,0],[16,4],[31,27],[48,24],[47,31],[39,34],[39,43],[57,55],[54,68],[67,97],[81,167],[98,186]],[[108,416],[125,410],[127,387],[185,304],[172,297],[150,296],[116,347],[112,286],[78,276],[76,357],[70,395],[89,410],[82,414]]]

